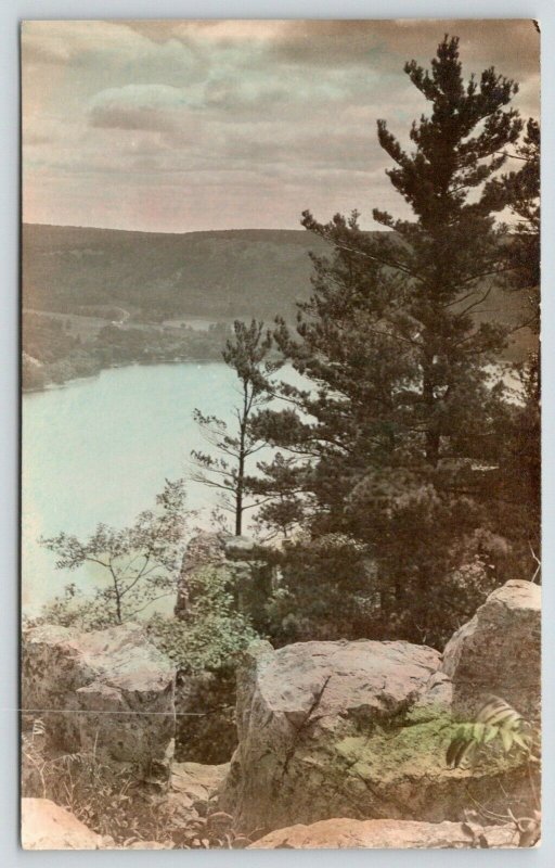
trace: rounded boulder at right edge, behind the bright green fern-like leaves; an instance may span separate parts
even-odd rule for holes
[[[541,704],[541,590],[513,580],[494,590],[448,642],[442,671],[453,715],[472,720],[488,694],[538,720]]]

